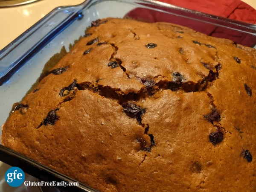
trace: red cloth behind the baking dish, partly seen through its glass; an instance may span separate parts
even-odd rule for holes
[[[169,3],[175,6],[180,6],[186,9],[192,9],[198,12],[207,13],[210,15],[221,16],[233,20],[239,20],[246,23],[256,23],[256,10],[241,0],[160,0],[164,3]],[[174,9],[175,13],[175,9]],[[184,12],[184,15],[190,17],[189,13]],[[137,8],[127,14],[128,17],[150,21],[150,22],[169,22],[190,27],[198,32],[203,32],[207,35],[228,38],[235,43],[253,47],[256,44],[256,36],[241,32],[241,30],[232,30],[209,23],[202,23],[198,20],[190,20],[186,17],[177,17],[164,12],[157,12],[151,9]],[[194,15],[193,15],[194,17]],[[209,20],[211,22],[211,20]],[[225,23],[229,24],[229,23]],[[231,28],[233,26],[230,26]],[[254,31],[252,33],[255,33]]]

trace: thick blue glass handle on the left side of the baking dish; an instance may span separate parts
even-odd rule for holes
[[[3,48],[0,51],[0,85],[8,81],[26,58],[35,55],[74,20],[81,19],[81,9],[82,5],[58,7]]]

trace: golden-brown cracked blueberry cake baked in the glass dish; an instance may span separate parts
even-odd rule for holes
[[[3,145],[99,191],[256,191],[256,50],[106,18],[16,103]]]

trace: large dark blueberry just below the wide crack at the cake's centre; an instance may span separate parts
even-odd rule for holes
[[[135,118],[138,121],[141,121],[141,116],[145,113],[145,109],[142,107],[135,105],[134,103],[124,103],[122,104],[124,108],[124,112],[131,118]]]

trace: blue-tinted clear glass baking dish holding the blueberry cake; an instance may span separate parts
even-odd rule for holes
[[[9,116],[12,104],[19,102],[38,79],[49,58],[63,46],[69,50],[70,44],[84,35],[92,21],[104,17],[176,23],[245,46],[256,44],[256,25],[155,0],[86,0],[77,6],[58,7],[0,51],[0,125]],[[40,180],[74,181],[3,145],[0,145],[0,160]],[[94,191],[82,183],[59,188],[62,191]]]

